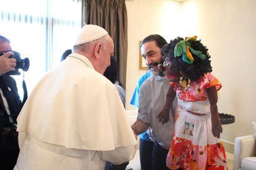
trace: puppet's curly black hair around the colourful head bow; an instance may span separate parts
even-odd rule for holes
[[[200,76],[212,71],[210,61],[211,56],[208,53],[207,47],[203,46],[201,43],[201,40],[192,41],[190,45],[192,49],[201,51],[203,54],[205,54],[206,59],[202,60],[192,54],[194,57],[194,62],[192,64],[184,63],[182,56],[174,57],[174,48],[177,42],[182,40],[184,39],[181,37],[177,37],[176,39],[171,40],[169,44],[163,47],[161,50],[161,55],[164,59],[167,58],[171,61],[171,67],[173,67],[175,70],[183,71],[191,81],[197,81]]]

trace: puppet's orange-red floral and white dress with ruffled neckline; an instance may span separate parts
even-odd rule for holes
[[[166,157],[170,169],[228,169],[220,139],[211,132],[210,102],[207,88],[221,88],[207,73],[185,91],[179,83],[170,83],[177,94],[175,134]],[[182,85],[182,84],[181,84]]]

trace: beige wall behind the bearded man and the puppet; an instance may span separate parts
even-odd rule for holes
[[[256,1],[128,0],[126,6],[127,110],[135,109],[129,105],[130,98],[137,79],[145,73],[139,70],[139,40],[154,33],[168,41],[197,34],[209,49],[213,75],[223,84],[219,111],[236,116],[236,123],[223,126],[222,139],[233,143],[234,137],[252,134],[252,121],[256,121]]]

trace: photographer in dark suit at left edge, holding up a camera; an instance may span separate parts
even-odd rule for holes
[[[0,52],[9,50],[10,41],[0,35]],[[13,169],[19,155],[16,119],[21,101],[14,78],[4,75],[16,67],[16,60],[9,59],[10,55],[14,55],[13,52],[0,56],[0,169]]]

